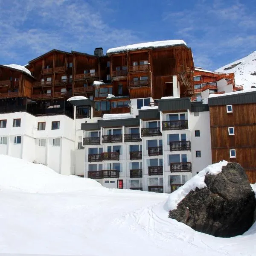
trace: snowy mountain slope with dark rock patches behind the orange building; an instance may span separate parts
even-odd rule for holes
[[[243,85],[244,89],[256,86],[256,51],[215,71],[235,73],[236,84]]]

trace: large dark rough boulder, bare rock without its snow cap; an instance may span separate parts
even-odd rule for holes
[[[206,175],[207,188],[192,190],[169,212],[194,230],[218,237],[243,234],[253,224],[254,192],[244,169],[228,163],[218,175]]]

